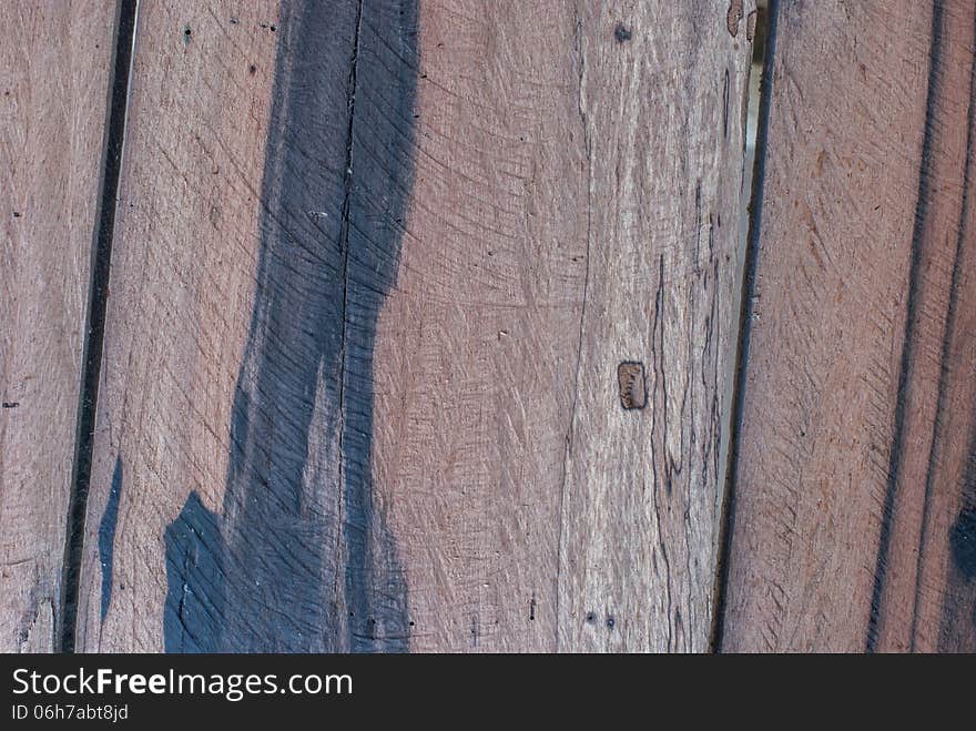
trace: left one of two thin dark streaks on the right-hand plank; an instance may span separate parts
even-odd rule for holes
[[[928,222],[928,202],[932,199],[932,176],[934,167],[933,145],[935,144],[936,113],[939,88],[942,85],[942,44],[944,40],[944,8],[936,0],[932,12],[932,45],[929,50],[928,91],[925,102],[925,130],[922,140],[922,162],[918,171],[918,196],[915,202],[915,224],[912,232],[912,261],[908,273],[908,299],[905,314],[905,336],[902,343],[902,361],[898,373],[898,390],[895,402],[895,428],[888,456],[888,479],[882,511],[881,534],[874,569],[874,588],[867,619],[865,650],[874,652],[881,631],[881,605],[884,598],[885,573],[891,550],[892,527],[895,518],[898,480],[902,470],[902,456],[905,449],[905,418],[912,370],[915,365],[916,331],[923,313],[918,309],[922,286],[922,250],[925,243],[925,227]]]

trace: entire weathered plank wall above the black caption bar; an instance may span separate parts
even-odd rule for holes
[[[976,648],[970,2],[0,17],[0,649]]]

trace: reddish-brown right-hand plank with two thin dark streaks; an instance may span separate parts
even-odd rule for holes
[[[973,651],[976,11],[775,17],[722,647]]]

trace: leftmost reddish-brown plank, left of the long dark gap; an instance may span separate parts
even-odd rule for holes
[[[0,651],[50,652],[114,3],[0,6]]]

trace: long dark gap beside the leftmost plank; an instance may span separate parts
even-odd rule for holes
[[[78,402],[74,464],[71,474],[71,498],[68,505],[64,564],[61,575],[61,611],[54,629],[54,647],[60,652],[74,652],[78,621],[79,579],[84,544],[84,516],[91,481],[92,440],[99,378],[102,369],[102,344],[105,335],[105,305],[109,295],[109,270],[115,205],[125,139],[125,115],[129,106],[129,79],[132,71],[132,47],[135,39],[138,0],[120,0],[115,16],[114,58],[109,82],[105,135],[102,151],[102,175],[92,235],[91,280],[85,315],[84,351]]]

